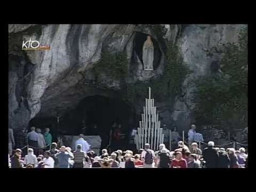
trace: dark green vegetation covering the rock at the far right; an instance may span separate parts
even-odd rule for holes
[[[220,76],[200,77],[196,80],[196,116],[209,124],[219,124],[233,130],[247,126],[247,28],[239,34],[236,44],[222,44],[209,50],[223,54]]]

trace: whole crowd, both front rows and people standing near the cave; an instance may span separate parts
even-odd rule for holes
[[[175,128],[176,129],[176,128]],[[174,132],[177,131],[174,130]],[[9,131],[10,133],[10,131]],[[178,132],[177,132],[178,133]],[[154,151],[149,143],[144,149],[122,151],[116,146],[115,151],[102,149],[100,154],[90,150],[90,145],[80,134],[75,143],[75,150],[70,147],[58,146],[52,142],[50,129],[46,128],[42,134],[40,129],[31,127],[26,133],[21,130],[17,134],[16,143],[10,146],[20,146],[12,154],[9,150],[9,167],[11,168],[244,168],[247,167],[248,155],[245,148],[218,148],[213,141],[203,151],[193,139],[195,126],[188,132],[188,145],[178,141],[174,150],[166,148],[165,143],[159,145]],[[174,135],[174,134],[173,134]],[[174,135],[175,136],[175,135]],[[10,136],[11,141],[13,135]],[[177,134],[172,141],[177,141]],[[14,139],[13,139],[14,140]],[[14,141],[13,141],[14,142]],[[21,148],[21,146],[29,146]],[[46,149],[49,146],[49,149]],[[22,150],[23,149],[23,150]],[[35,151],[36,150],[36,151]],[[134,153],[135,152],[135,153]]]

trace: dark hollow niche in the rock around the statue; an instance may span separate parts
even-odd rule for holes
[[[137,31],[135,33],[135,38],[134,38],[134,50],[135,53],[138,55],[141,63],[143,63],[142,60],[142,50],[143,50],[143,44],[147,39],[148,34],[145,33],[141,33],[139,31]],[[154,69],[156,69],[161,61],[161,57],[162,57],[162,52],[159,48],[158,42],[156,41],[156,39],[154,39],[153,37],[151,37],[153,44],[154,44],[154,61],[153,61],[153,67]],[[133,55],[134,58],[134,55]]]

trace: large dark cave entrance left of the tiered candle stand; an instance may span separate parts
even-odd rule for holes
[[[57,118],[34,118],[30,126],[48,126],[51,129],[53,138],[57,140],[58,135],[100,135],[101,146],[104,148],[109,143],[111,125],[116,122],[121,124],[122,134],[126,134],[121,149],[129,145],[129,135],[135,127],[135,111],[131,106],[118,98],[108,98],[101,95],[85,97],[78,105],[66,111],[59,119]],[[95,126],[96,125],[96,126]]]

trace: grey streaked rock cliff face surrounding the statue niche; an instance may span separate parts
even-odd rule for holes
[[[148,81],[163,73],[166,44],[178,45],[192,73],[182,85],[182,97],[173,110],[158,103],[162,123],[187,129],[194,121],[191,79],[210,73],[211,63],[221,55],[207,57],[205,50],[238,40],[243,25],[161,25],[164,33],[150,25],[9,25],[9,126],[21,129],[34,117],[55,117],[75,108],[85,97],[118,98],[121,82],[102,74],[97,82],[93,67],[101,52],[127,53],[129,75],[124,83]],[[147,34],[153,37],[154,71],[144,71],[140,46]],[[51,50],[22,51],[22,41],[35,39]],[[144,41],[145,41],[144,40]],[[143,42],[142,42],[143,43]],[[147,87],[145,87],[147,89]],[[159,90],[161,91],[161,90]],[[140,107],[133,103],[139,115]],[[181,129],[182,129],[181,128]]]

